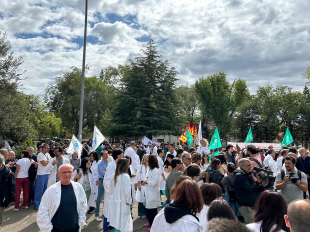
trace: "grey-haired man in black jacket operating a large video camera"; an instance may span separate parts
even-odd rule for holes
[[[242,158],[239,161],[239,168],[234,172],[234,186],[237,195],[239,211],[242,214],[246,224],[254,221],[254,205],[259,194],[264,191],[269,181],[261,181],[259,175],[265,175],[263,172],[256,174],[255,182],[251,176],[251,164],[248,159]]]

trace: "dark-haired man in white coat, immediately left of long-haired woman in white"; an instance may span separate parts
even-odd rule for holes
[[[127,148],[128,150],[129,148]],[[116,148],[112,152],[113,161],[108,164],[105,169],[105,174],[103,177],[103,188],[104,188],[104,202],[103,202],[103,232],[111,231],[114,228],[109,226],[108,207],[112,197],[112,188],[110,186],[110,181],[114,177],[117,161],[122,158],[123,151],[119,148]],[[132,159],[132,158],[131,158]]]

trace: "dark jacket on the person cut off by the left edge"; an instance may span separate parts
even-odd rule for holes
[[[0,170],[0,207],[7,207],[15,193],[14,173],[3,165]]]

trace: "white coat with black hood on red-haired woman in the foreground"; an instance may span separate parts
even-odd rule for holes
[[[185,215],[174,223],[167,223],[164,218],[164,209],[155,217],[151,232],[203,232],[201,224],[191,215]]]

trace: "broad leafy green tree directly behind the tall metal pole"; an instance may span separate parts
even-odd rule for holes
[[[50,112],[61,118],[65,129],[73,134],[78,132],[79,98],[81,69],[71,67],[69,71],[57,77],[45,90],[45,103]],[[98,125],[105,111],[110,110],[113,88],[107,86],[97,76],[85,77],[83,135],[92,136],[93,127]],[[108,123],[108,121],[105,121]]]

